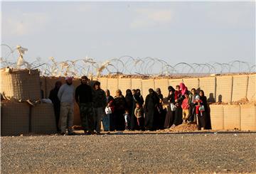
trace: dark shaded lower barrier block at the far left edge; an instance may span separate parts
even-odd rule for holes
[[[1,136],[18,136],[29,132],[29,105],[1,102]]]

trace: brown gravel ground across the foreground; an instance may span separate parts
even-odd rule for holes
[[[1,137],[1,173],[256,173],[256,134]]]

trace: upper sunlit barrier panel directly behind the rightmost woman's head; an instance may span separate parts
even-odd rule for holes
[[[215,87],[216,79],[215,77],[201,77],[199,78],[199,87],[205,93],[208,102],[215,102]]]

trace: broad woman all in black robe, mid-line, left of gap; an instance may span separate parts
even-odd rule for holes
[[[149,94],[146,96],[145,101],[145,127],[146,130],[154,131],[156,126],[154,125],[154,120],[157,114],[157,104],[159,104],[159,98],[153,89],[149,89]]]

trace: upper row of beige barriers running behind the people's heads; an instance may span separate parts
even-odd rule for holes
[[[53,89],[55,82],[60,80],[65,82],[64,77],[41,77],[41,89],[45,91],[45,97],[48,97],[50,89]],[[200,77],[200,78],[112,78],[112,77],[93,77],[93,80],[99,80],[102,89],[110,89],[110,94],[114,97],[117,89],[122,90],[125,96],[126,89],[141,89],[143,97],[149,94],[149,88],[161,89],[164,97],[167,97],[169,86],[179,85],[184,82],[188,90],[191,88],[203,89],[208,102],[235,102],[247,97],[249,101],[256,101],[256,74],[251,75],[225,75],[216,77]],[[80,80],[74,80],[74,86],[80,85]]]

